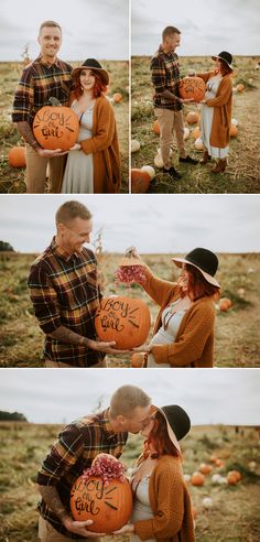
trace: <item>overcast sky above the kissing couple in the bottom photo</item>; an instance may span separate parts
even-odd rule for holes
[[[36,423],[67,423],[100,401],[107,408],[127,383],[159,406],[182,405],[195,425],[260,424],[259,369],[1,369],[0,410]]]

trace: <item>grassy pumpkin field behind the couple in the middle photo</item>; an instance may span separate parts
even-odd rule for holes
[[[130,196],[129,196],[130,197]],[[43,333],[33,314],[26,286],[36,254],[0,252],[0,366],[42,367]],[[144,301],[151,329],[158,306],[140,285],[115,284],[122,254],[97,254],[104,296],[111,294]],[[175,281],[177,268],[170,254],[145,254],[143,261],[162,279]],[[216,367],[260,367],[260,253],[219,254],[221,300],[216,303]],[[136,313],[133,313],[136,314]],[[109,367],[131,367],[131,355],[107,356]]]

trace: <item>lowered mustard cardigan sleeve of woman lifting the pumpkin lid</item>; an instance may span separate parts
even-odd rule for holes
[[[151,353],[156,364],[185,367],[199,359],[205,344],[213,333],[214,322],[214,306],[198,303],[193,308],[187,324],[176,343],[152,346]]]

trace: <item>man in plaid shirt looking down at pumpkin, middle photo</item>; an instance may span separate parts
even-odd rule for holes
[[[105,353],[124,353],[115,350],[115,343],[96,340],[97,262],[84,248],[91,229],[88,208],[66,202],[56,213],[56,236],[30,270],[30,295],[45,334],[46,367],[105,367]]]

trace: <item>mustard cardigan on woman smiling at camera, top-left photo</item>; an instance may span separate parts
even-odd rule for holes
[[[75,99],[72,93],[69,102]],[[93,137],[82,141],[85,154],[93,154],[94,193],[115,194],[120,191],[120,152],[115,112],[105,96],[96,98],[93,111]]]

